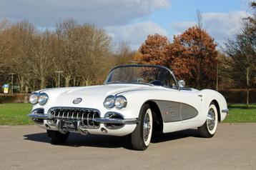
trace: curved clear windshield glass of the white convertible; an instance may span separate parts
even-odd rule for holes
[[[105,84],[149,84],[177,89],[174,76],[162,66],[118,66],[110,72]]]

